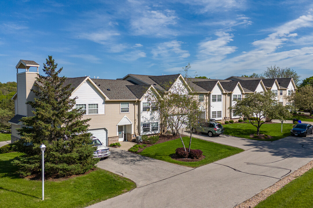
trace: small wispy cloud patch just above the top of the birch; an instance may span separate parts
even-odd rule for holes
[[[160,43],[158,46],[152,49],[151,53],[153,58],[187,58],[190,56],[187,50],[182,50],[182,41],[169,41]]]

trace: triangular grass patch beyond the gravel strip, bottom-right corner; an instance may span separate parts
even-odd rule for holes
[[[291,181],[256,208],[294,208],[313,206],[313,169]]]

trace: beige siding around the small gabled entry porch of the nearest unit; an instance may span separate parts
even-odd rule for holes
[[[126,115],[131,123],[135,123],[134,101],[129,102],[129,113],[120,113],[120,110],[121,109],[119,101],[105,102],[105,114],[84,115],[83,119],[91,119],[88,122],[88,124],[90,125],[89,129],[106,128],[108,130],[108,137],[115,137],[118,136],[116,126],[124,117],[124,115]],[[134,125],[132,125],[132,128],[134,128]]]

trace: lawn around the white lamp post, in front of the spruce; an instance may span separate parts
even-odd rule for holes
[[[10,159],[17,152],[0,154],[0,207],[86,207],[120,195],[136,184],[114,173],[97,169],[89,174],[64,181],[42,182],[21,179]]]

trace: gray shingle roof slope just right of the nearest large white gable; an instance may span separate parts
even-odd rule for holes
[[[128,86],[134,85],[130,81],[104,80],[104,79],[91,79],[91,80],[94,81],[96,85],[102,90],[102,92],[111,100],[137,99],[136,95],[128,88]]]

